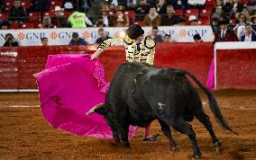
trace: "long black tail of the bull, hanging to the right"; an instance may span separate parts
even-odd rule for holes
[[[209,100],[209,103],[210,103],[210,109],[211,111],[213,111],[214,115],[215,115],[215,120],[224,128],[224,129],[227,129],[231,132],[233,132],[234,134],[237,135],[236,132],[233,131],[233,129],[231,129],[229,127],[229,125],[227,124],[226,120],[224,120],[224,116],[222,115],[220,109],[219,109],[219,106],[215,100],[215,97],[213,96],[212,93],[210,93],[208,91],[208,89],[206,89],[206,87],[201,84],[196,76],[194,76],[192,73],[190,72],[187,72],[187,71],[184,71],[184,70],[177,70],[177,73],[178,75],[181,74],[181,75],[187,75],[189,77],[191,77],[196,83],[197,85],[206,93],[207,97],[208,97],[208,100]]]

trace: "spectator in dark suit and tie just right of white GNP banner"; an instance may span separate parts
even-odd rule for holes
[[[228,27],[227,21],[223,20],[219,22],[219,26],[221,30],[218,31],[217,35],[215,35],[215,41],[238,41],[233,31],[227,28]]]

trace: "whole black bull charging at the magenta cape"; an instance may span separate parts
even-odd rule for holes
[[[105,104],[94,107],[87,114],[97,112],[104,115],[113,131],[115,142],[122,141],[124,147],[130,147],[129,125],[146,127],[157,119],[172,149],[178,145],[171,136],[169,126],[187,134],[192,142],[193,156],[200,157],[196,134],[187,121],[196,117],[209,131],[216,149],[220,142],[203,110],[196,89],[186,76],[190,76],[206,93],[215,120],[224,129],[233,132],[224,120],[213,94],[195,76],[184,70],[152,67],[142,63],[124,63],[118,67],[106,93]]]

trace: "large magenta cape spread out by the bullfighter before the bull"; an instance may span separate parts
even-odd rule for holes
[[[50,55],[45,70],[34,75],[39,87],[41,112],[55,129],[63,129],[79,136],[112,138],[112,130],[104,117],[87,116],[86,112],[105,102],[109,83],[98,59],[90,55]],[[129,138],[136,132],[131,126]]]

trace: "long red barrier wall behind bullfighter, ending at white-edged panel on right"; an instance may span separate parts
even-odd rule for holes
[[[16,51],[16,58],[0,55],[0,68],[5,74],[0,75],[0,89],[34,89],[37,88],[32,74],[40,72],[49,54],[92,53],[96,46],[52,46],[20,47],[16,49],[1,48],[0,52]],[[123,47],[111,47],[100,56],[106,70],[108,81],[114,76],[116,67],[125,61]],[[159,43],[156,46],[155,65],[159,67],[176,67],[187,69],[206,84],[207,73],[213,58],[212,43]],[[4,64],[4,65],[3,65]],[[16,67],[16,71],[8,69]]]

